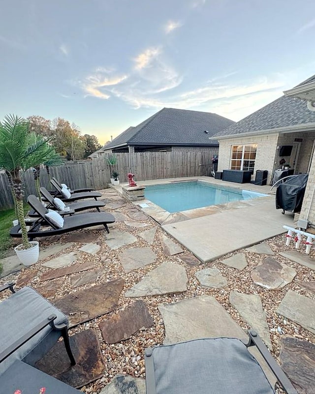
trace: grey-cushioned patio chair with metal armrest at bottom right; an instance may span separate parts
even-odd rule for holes
[[[285,392],[297,393],[259,335],[249,330],[248,336],[248,342],[206,338],[146,349],[147,394],[274,394],[250,346],[256,346]]]

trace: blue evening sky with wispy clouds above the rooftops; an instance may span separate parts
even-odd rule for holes
[[[101,144],[163,107],[238,121],[315,74],[312,0],[2,0],[0,119]]]

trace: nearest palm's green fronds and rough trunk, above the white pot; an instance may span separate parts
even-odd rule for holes
[[[24,248],[32,245],[23,211],[23,187],[21,172],[43,162],[45,152],[41,148],[47,144],[44,138],[30,145],[29,123],[16,115],[8,115],[0,122],[0,169],[5,170],[12,190],[14,209],[20,222]],[[22,171],[21,171],[22,170]]]

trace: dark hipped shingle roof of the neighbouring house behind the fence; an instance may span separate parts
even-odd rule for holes
[[[234,123],[209,112],[163,108],[135,127],[129,127],[104,149],[127,145],[218,145],[209,139]],[[208,133],[205,133],[205,130]]]

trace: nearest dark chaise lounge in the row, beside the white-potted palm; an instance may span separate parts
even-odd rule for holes
[[[52,235],[59,235],[69,233],[74,230],[79,230],[86,227],[97,226],[102,224],[107,233],[109,233],[108,223],[114,223],[115,217],[111,213],[106,212],[90,212],[90,213],[78,213],[72,216],[64,217],[63,227],[58,228],[52,221],[50,221],[45,214],[48,213],[48,209],[45,208],[34,196],[31,194],[28,197],[28,203],[32,209],[37,212],[39,218],[32,223],[30,230],[28,231],[28,237],[32,241],[36,237],[47,237]],[[50,226],[49,229],[40,231],[42,226]],[[20,232],[20,225],[14,226],[10,230],[10,236],[21,238],[22,233]]]

